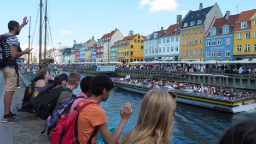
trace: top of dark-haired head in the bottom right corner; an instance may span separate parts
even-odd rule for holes
[[[219,144],[256,143],[256,121],[249,119],[231,125],[220,137]]]

